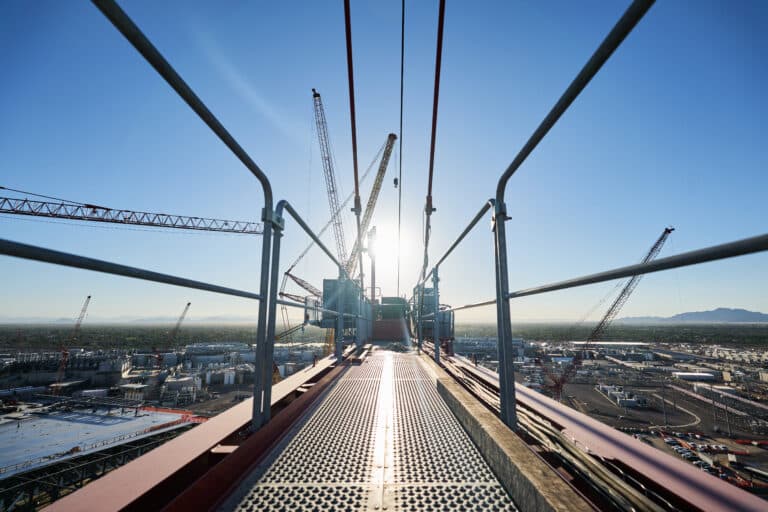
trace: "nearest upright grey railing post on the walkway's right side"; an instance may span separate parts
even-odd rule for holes
[[[510,428],[517,428],[515,398],[515,368],[512,350],[512,325],[509,316],[509,274],[507,266],[506,205],[497,200],[494,211],[494,241],[496,260],[496,330],[499,345],[499,394],[501,419]]]

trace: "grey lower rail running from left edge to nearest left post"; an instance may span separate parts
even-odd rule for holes
[[[129,267],[109,261],[88,258],[67,252],[54,251],[35,245],[22,244],[0,238],[0,254],[13,256],[27,260],[41,261],[44,263],[53,263],[65,267],[80,268],[83,270],[92,270],[94,272],[103,272],[105,274],[114,274],[118,276],[130,277],[132,279],[142,279],[144,281],[153,281],[156,283],[170,284],[184,288],[193,288],[223,295],[232,295],[234,297],[243,297],[246,299],[262,300],[262,296],[257,293],[236,290],[215,284],[194,281],[184,277],[162,274],[138,267]]]

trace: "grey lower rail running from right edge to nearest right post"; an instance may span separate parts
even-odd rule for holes
[[[768,233],[751,238],[744,238],[735,242],[713,245],[704,249],[684,252],[682,254],[676,254],[674,256],[661,258],[658,260],[650,261],[648,263],[638,263],[636,265],[615,268],[613,270],[598,272],[596,274],[590,274],[588,276],[582,276],[575,279],[568,279],[566,281],[551,283],[544,286],[518,290],[507,295],[507,298],[514,299],[556,290],[566,290],[568,288],[602,283],[604,281],[611,281],[613,279],[621,279],[622,277],[649,274],[651,272],[659,272],[661,270],[697,265],[699,263],[706,263],[708,261],[717,261],[726,258],[733,258],[736,256],[754,254],[762,251],[768,251]]]

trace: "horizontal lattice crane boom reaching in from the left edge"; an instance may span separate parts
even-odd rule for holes
[[[131,226],[218,231],[220,233],[243,235],[261,235],[264,233],[264,226],[256,222],[116,210],[92,204],[52,203],[10,197],[0,197],[0,213],[89,222],[109,222]]]

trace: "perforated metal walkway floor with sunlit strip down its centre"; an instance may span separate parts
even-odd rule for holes
[[[350,367],[224,510],[516,510],[413,354]]]

